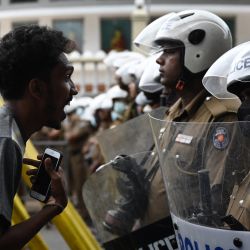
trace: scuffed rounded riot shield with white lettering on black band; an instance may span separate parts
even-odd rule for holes
[[[151,181],[158,170],[154,151],[123,154],[102,165],[86,181],[83,197],[105,249],[177,249],[167,211],[161,220],[143,223]]]

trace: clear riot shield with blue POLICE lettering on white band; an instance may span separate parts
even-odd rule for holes
[[[150,122],[179,249],[249,249],[250,123]]]

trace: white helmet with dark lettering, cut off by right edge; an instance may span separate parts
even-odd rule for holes
[[[227,51],[209,68],[202,83],[213,96],[218,99],[237,98],[234,89],[235,84],[243,86],[249,79],[250,64],[248,60],[250,42],[242,43]]]

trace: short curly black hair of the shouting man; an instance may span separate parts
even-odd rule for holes
[[[60,31],[27,25],[6,34],[0,41],[0,92],[6,100],[23,97],[33,78],[49,80],[62,52],[69,53],[74,42]]]

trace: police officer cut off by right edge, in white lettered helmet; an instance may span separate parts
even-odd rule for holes
[[[249,121],[250,121],[250,42],[238,45],[224,54],[207,72],[203,79],[203,84],[211,90],[211,93],[219,98],[232,98],[232,94],[238,96],[242,103],[237,115],[240,123],[241,132],[245,137],[244,145],[237,145],[237,150],[249,148]],[[222,65],[226,65],[223,67]],[[216,73],[216,74],[215,74]],[[221,86],[215,88],[210,82],[210,76],[216,75]],[[223,79],[223,80],[222,80]],[[223,84],[222,84],[223,83]],[[212,91],[213,89],[213,91]],[[223,91],[222,91],[223,90]],[[232,94],[231,94],[232,93]],[[227,217],[238,221],[245,229],[250,230],[250,172],[249,162],[247,161],[248,152],[241,153],[244,161],[240,163],[242,171],[235,173],[235,186],[230,196],[230,203],[227,209]],[[245,164],[246,163],[246,164]],[[231,224],[232,226],[232,224]],[[239,226],[239,225],[238,225]],[[238,228],[243,229],[243,228]]]

